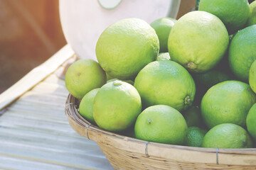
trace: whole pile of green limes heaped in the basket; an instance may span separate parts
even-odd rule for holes
[[[256,1],[201,0],[198,11],[106,28],[97,61],[65,75],[99,128],[171,145],[256,144]]]

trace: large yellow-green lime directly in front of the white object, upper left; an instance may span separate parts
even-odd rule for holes
[[[112,24],[103,31],[96,45],[101,67],[117,79],[133,79],[146,64],[156,60],[158,54],[156,31],[138,18]]]

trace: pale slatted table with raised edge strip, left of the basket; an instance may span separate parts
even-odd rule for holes
[[[0,169],[113,169],[65,116],[60,75],[74,60],[66,45],[0,95]]]

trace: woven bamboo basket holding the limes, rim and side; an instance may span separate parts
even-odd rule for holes
[[[214,149],[165,145],[118,135],[91,125],[78,113],[79,101],[68,95],[70,126],[97,142],[114,169],[256,169],[256,149]]]

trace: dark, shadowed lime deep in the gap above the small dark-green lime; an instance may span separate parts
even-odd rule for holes
[[[203,118],[201,115],[201,110],[198,106],[192,106],[188,108],[186,111],[183,112],[183,116],[186,120],[188,127],[196,126],[202,127],[203,126]]]

